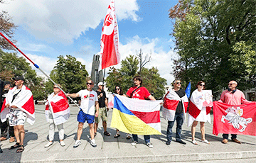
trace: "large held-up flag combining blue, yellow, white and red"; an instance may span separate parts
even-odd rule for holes
[[[114,94],[111,127],[124,133],[161,135],[160,103]]]

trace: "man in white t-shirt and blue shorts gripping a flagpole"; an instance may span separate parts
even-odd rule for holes
[[[97,99],[97,93],[96,91],[93,91],[92,88],[94,86],[93,81],[88,80],[86,83],[87,89],[78,91],[76,94],[66,94],[66,96],[70,96],[72,98],[81,97],[81,105],[80,105],[80,111],[78,113],[78,140],[75,141],[75,145],[73,146],[78,147],[81,145],[81,135],[82,135],[82,127],[85,121],[87,121],[89,127],[90,127],[90,144],[92,147],[96,147],[96,142],[94,139],[94,128],[93,123],[95,120],[95,117],[99,114],[99,103]],[[95,113],[95,107],[96,107],[96,113]]]

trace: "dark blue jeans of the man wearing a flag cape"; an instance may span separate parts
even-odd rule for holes
[[[176,140],[181,140],[181,127],[183,124],[184,113],[178,113],[174,116],[174,121],[176,120]],[[171,141],[172,128],[174,127],[174,121],[168,121],[166,138]]]

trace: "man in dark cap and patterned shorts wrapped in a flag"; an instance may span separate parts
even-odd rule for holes
[[[25,149],[23,146],[24,123],[26,120],[31,125],[35,122],[35,106],[31,90],[23,85],[25,79],[22,76],[13,79],[16,86],[9,90],[4,100],[1,108],[1,121],[4,122],[6,118],[9,118],[10,126],[14,126],[14,135],[17,142],[9,149],[18,148],[16,152],[23,152]]]

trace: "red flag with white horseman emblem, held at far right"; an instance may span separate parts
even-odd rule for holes
[[[256,103],[231,106],[213,102],[213,134],[230,133],[256,136]]]

